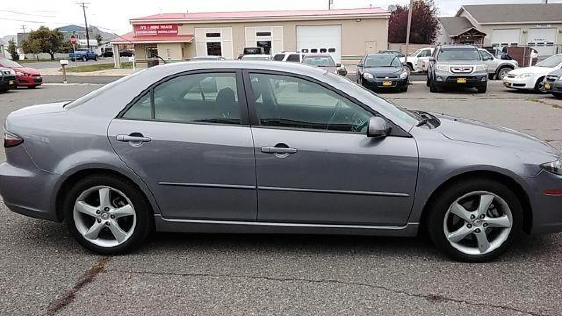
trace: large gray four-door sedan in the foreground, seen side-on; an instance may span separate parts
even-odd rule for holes
[[[562,230],[560,152],[299,64],[151,67],[8,116],[0,192],[119,254],[153,231],[429,234],[481,262]]]

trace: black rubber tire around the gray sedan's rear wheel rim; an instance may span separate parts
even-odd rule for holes
[[[84,238],[78,231],[78,228],[76,228],[74,223],[74,203],[82,192],[96,186],[108,186],[118,189],[123,192],[133,204],[137,216],[137,224],[134,227],[133,234],[128,240],[121,243],[121,245],[113,247],[95,245]],[[133,250],[135,247],[138,247],[154,229],[152,208],[146,197],[144,197],[143,193],[133,182],[128,179],[116,177],[115,175],[99,174],[81,179],[69,189],[63,207],[65,224],[72,237],[85,249],[101,255],[118,255]]]

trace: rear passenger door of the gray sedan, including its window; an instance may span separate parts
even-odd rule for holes
[[[256,220],[253,143],[241,73],[200,71],[159,83],[108,129],[162,216]]]

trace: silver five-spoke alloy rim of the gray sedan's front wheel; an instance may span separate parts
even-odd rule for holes
[[[457,198],[443,220],[447,241],[468,255],[496,250],[509,237],[512,225],[509,205],[500,196],[484,191]]]

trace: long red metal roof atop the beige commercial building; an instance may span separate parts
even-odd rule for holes
[[[138,17],[131,21],[152,20],[213,20],[213,19],[268,19],[271,17],[314,17],[314,16],[357,16],[386,15],[388,11],[379,7],[335,9],[335,10],[297,10],[297,11],[246,11],[246,12],[201,12],[201,13],[162,13]]]

